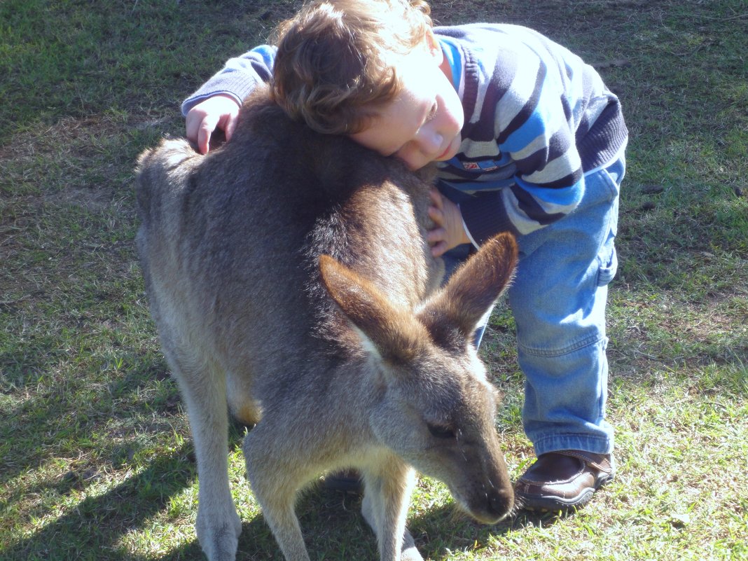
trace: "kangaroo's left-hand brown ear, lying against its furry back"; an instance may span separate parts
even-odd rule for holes
[[[357,329],[364,348],[395,364],[420,354],[429,333],[411,310],[396,307],[373,283],[328,255],[319,257],[319,271],[328,293]]]

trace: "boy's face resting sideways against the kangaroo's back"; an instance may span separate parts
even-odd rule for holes
[[[441,47],[429,41],[427,49],[406,55],[397,71],[402,93],[375,110],[372,124],[351,138],[383,156],[397,156],[411,170],[452,158],[465,114]]]

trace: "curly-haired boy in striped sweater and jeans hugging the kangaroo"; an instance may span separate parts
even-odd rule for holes
[[[613,478],[605,301],[616,272],[628,139],[619,101],[562,46],[515,25],[432,28],[420,0],[318,0],[183,103],[205,153],[230,140],[242,99],[271,82],[286,112],[411,169],[436,162],[432,253],[465,259],[517,236],[509,289],[523,424],[537,460],[518,480],[528,509],[581,506]],[[476,344],[480,335],[476,335]]]

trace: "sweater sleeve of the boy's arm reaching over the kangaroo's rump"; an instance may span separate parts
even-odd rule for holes
[[[269,82],[277,50],[275,46],[260,45],[230,58],[220,72],[182,102],[182,114],[186,116],[194,105],[219,93],[232,96],[241,105],[257,84]]]

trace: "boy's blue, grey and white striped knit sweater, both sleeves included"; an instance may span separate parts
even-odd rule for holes
[[[618,98],[595,70],[518,25],[435,28],[465,110],[462,144],[438,162],[439,188],[459,203],[476,245],[533,232],[573,211],[584,174],[613,162],[628,132]],[[241,102],[269,80],[275,49],[230,59],[182,105],[228,93]]]

